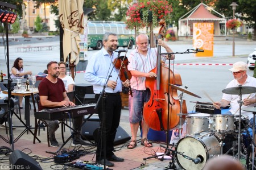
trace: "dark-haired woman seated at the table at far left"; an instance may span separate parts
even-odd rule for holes
[[[16,58],[16,60],[14,61],[14,64],[13,64],[13,67],[11,68],[11,71],[10,71],[10,74],[11,74],[11,78],[24,78],[25,75],[27,74],[32,74],[31,71],[27,71],[25,72],[24,69],[23,69],[23,60],[22,58],[18,57]],[[19,106],[20,106],[20,109],[22,109],[22,99],[23,99],[23,96],[19,96]]]

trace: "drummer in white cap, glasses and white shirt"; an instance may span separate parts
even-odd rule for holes
[[[238,85],[242,86],[251,86],[256,87],[256,78],[247,75],[247,64],[238,61],[237,63],[233,64],[233,68],[229,69],[233,76],[234,80],[230,81],[226,88],[234,88],[238,87]],[[213,103],[213,106],[216,109],[220,109],[221,107],[226,107],[230,104],[231,109],[222,114],[233,114],[238,115],[240,114],[240,104],[237,102],[240,99],[239,94],[223,94],[221,101],[217,101]],[[253,107],[255,103],[255,93],[251,94],[243,94],[242,95],[242,109],[246,107]],[[253,113],[241,110],[242,116],[246,115],[249,117],[251,125],[253,124]]]

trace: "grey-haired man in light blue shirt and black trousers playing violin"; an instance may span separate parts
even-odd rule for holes
[[[100,98],[102,89],[105,88],[105,102],[101,98],[98,103],[98,116],[101,121],[101,128],[98,131],[96,162],[104,164],[104,148],[102,143],[102,126],[105,123],[105,140],[106,140],[106,160],[105,163],[109,167],[114,164],[110,161],[124,161],[123,158],[114,155],[114,139],[119,126],[121,117],[121,95],[122,85],[128,87],[129,80],[122,82],[119,78],[119,70],[114,68],[114,60],[117,59],[118,53],[114,52],[117,49],[118,39],[117,34],[106,32],[102,39],[104,48],[96,52],[88,61],[85,71],[85,80],[93,84],[93,91],[96,94],[96,102]],[[109,80],[108,80],[109,78]],[[108,82],[106,82],[108,80]],[[106,85],[106,86],[105,86]],[[103,94],[104,95],[104,94]],[[102,110],[102,104],[105,110]],[[105,122],[102,122],[102,114],[104,113]]]

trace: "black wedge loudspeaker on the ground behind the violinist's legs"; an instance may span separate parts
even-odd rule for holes
[[[82,139],[97,139],[98,128],[100,127],[100,119],[98,117],[90,117],[88,121],[84,123],[81,128]],[[121,126],[117,128],[117,134],[115,134],[114,145],[125,143],[129,141],[131,137],[127,134]],[[95,141],[97,143],[97,141]]]

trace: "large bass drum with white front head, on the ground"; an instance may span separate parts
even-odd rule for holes
[[[220,139],[216,135],[207,132],[201,133],[198,138],[187,136],[179,140],[176,151],[192,159],[197,157],[201,159],[200,163],[195,164],[192,160],[176,154],[177,163],[181,168],[188,170],[203,169],[210,158],[221,154]]]

